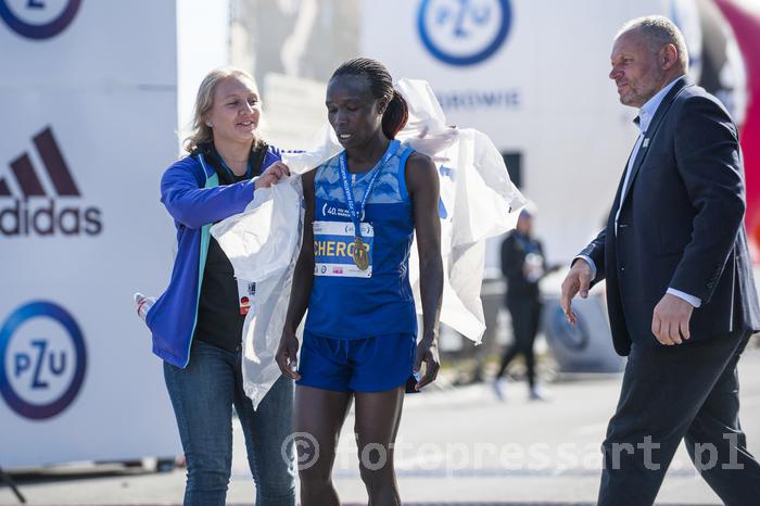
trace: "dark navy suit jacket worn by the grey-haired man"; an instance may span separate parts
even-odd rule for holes
[[[691,341],[760,329],[744,226],[744,169],[736,126],[723,105],[681,78],[642,142],[615,233],[621,178],[603,230],[581,254],[607,280],[615,349],[659,345],[655,306],[668,288],[701,300]]]

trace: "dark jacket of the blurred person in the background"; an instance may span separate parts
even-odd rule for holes
[[[530,244],[525,248],[525,243]],[[539,282],[529,281],[522,270],[529,249],[533,248],[544,257],[541,241],[512,230],[502,242],[502,274],[507,279],[507,307],[521,303],[539,302]],[[544,262],[544,268],[546,268]]]

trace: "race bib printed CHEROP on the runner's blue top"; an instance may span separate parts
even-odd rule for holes
[[[354,224],[350,222],[314,222],[314,275],[350,278],[372,277],[375,229],[362,224],[362,240],[369,257],[369,267],[359,269],[354,263]]]

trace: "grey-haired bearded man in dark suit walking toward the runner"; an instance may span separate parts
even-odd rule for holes
[[[599,506],[651,505],[679,443],[729,506],[760,504],[760,466],[738,421],[736,363],[760,329],[737,129],[685,77],[666,17],[629,22],[609,77],[639,109],[607,227],[573,262],[561,303],[603,279],[615,347],[629,360],[603,444]]]

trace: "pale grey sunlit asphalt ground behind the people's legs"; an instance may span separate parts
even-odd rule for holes
[[[743,427],[750,452],[760,455],[760,350],[745,353],[739,377]],[[504,402],[482,383],[439,387],[408,396],[395,459],[404,504],[593,505],[600,472],[598,448],[617,403],[620,377],[584,378],[545,387],[547,402],[529,401],[520,382],[506,385]],[[367,504],[352,429],[350,415],[339,443],[335,486],[345,505]],[[14,478],[31,505],[165,506],[181,504],[185,470],[152,472],[81,464]],[[228,501],[251,505],[254,494],[236,425]],[[18,502],[11,490],[0,485],[0,505],[13,504]],[[657,504],[721,502],[681,447]]]

